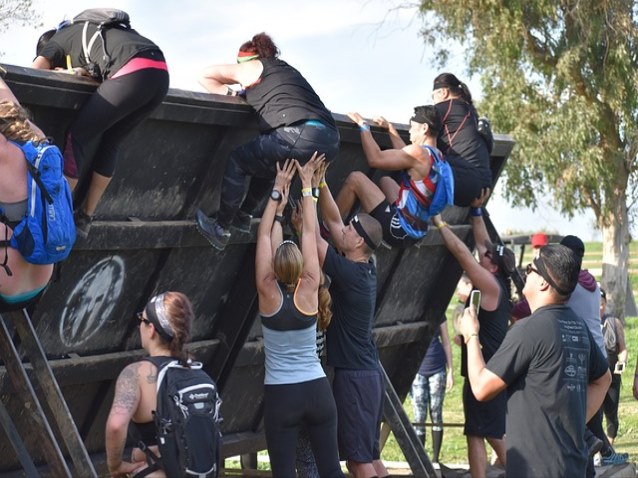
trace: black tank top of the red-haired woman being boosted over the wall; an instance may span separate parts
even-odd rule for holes
[[[246,88],[246,101],[259,115],[260,131],[313,119],[336,128],[332,114],[301,73],[277,58],[259,61],[264,71]]]

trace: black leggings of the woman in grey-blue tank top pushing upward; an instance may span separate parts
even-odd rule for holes
[[[337,407],[328,379],[264,386],[264,427],[273,476],[294,477],[299,428],[305,425],[322,477],[342,477]]]

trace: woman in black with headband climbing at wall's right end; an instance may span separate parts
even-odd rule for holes
[[[479,134],[472,94],[452,73],[441,73],[432,99],[443,124],[438,147],[454,172],[454,204],[469,206],[482,189],[492,187],[490,150]]]

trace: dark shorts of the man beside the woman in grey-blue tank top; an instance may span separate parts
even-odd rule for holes
[[[381,456],[383,378],[379,370],[335,369],[332,392],[337,404],[337,436],[342,460],[371,463]]]

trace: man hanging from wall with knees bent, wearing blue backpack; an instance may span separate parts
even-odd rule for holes
[[[410,119],[410,144],[406,146],[394,126],[384,118],[376,123],[390,133],[394,149],[382,151],[359,113],[348,113],[359,125],[363,151],[372,168],[398,171],[397,183],[384,176],[379,186],[361,171],[348,175],[337,194],[341,217],[350,214],[359,200],[361,209],[383,226],[383,240],[391,247],[416,244],[428,230],[430,216],[451,205],[454,196],[452,173],[436,149],[441,120],[434,106],[417,106]],[[436,162],[438,159],[440,162]],[[445,170],[443,170],[445,169]]]

